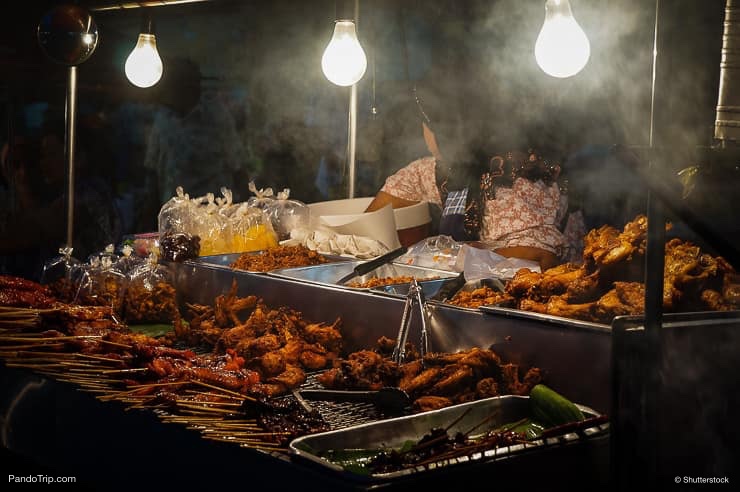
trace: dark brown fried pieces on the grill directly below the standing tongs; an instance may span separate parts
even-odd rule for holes
[[[423,358],[412,349],[407,350],[409,362],[399,366],[390,359],[393,340],[382,337],[377,345],[375,350],[335,360],[334,367],[320,374],[318,381],[329,389],[399,387],[413,400],[413,410],[424,412],[492,396],[526,395],[542,380],[537,367],[520,379],[517,364],[503,363],[489,349],[431,353]]]

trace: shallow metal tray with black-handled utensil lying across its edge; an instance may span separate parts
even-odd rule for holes
[[[361,263],[363,262],[362,261],[342,261],[342,262],[334,262],[334,263],[325,263],[323,265],[312,265],[312,266],[295,267],[295,268],[281,268],[278,270],[273,270],[269,273],[270,275],[274,275],[277,277],[289,278],[293,280],[303,280],[305,282],[310,282],[313,284],[330,285],[334,287],[340,286],[346,289],[370,291],[369,287],[358,288],[358,287],[349,287],[347,285],[337,284],[339,279],[341,279],[345,275],[352,272],[352,270]],[[448,278],[448,277],[457,276],[457,273],[449,272],[446,270],[435,270],[432,268],[402,265],[398,263],[387,263],[365,275],[355,277],[354,279],[352,279],[351,282],[362,283],[362,282],[367,282],[368,280],[373,279],[373,278],[400,277],[400,276],[416,277],[417,279],[425,279],[425,278],[428,279],[428,278],[435,278],[435,277]]]

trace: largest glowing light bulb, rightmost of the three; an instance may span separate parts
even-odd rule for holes
[[[547,0],[545,23],[534,45],[537,64],[546,74],[565,78],[580,72],[589,56],[591,45],[568,0]]]

